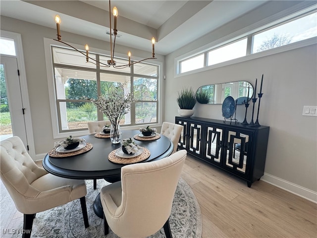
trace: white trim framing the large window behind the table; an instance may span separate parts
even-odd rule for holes
[[[81,49],[81,46],[78,46],[76,44],[72,44],[74,47],[76,47],[77,49]],[[56,42],[52,39],[48,39],[48,38],[44,38],[44,46],[45,46],[45,57],[46,57],[46,67],[47,67],[47,78],[48,78],[48,87],[49,87],[49,98],[50,98],[50,109],[51,109],[51,117],[52,117],[52,127],[53,127],[53,138],[63,138],[63,137],[67,137],[69,136],[69,132],[71,131],[73,136],[81,136],[81,135],[85,135],[88,134],[88,127],[87,128],[80,128],[80,129],[70,129],[70,130],[60,130],[60,117],[59,117],[59,111],[58,111],[58,106],[57,104],[60,101],[65,101],[63,100],[57,100],[56,98],[56,88],[55,88],[55,79],[54,79],[54,67],[53,67],[53,54],[52,54],[52,46],[55,47],[59,47],[59,48],[65,48],[65,49],[69,49],[67,47],[65,47],[62,43]],[[105,51],[105,50],[100,50],[100,49],[94,49],[91,48],[92,52],[98,52],[98,54],[100,55],[110,55],[109,52]],[[116,53],[116,56],[118,58],[122,58],[125,59],[126,56]],[[141,60],[138,59],[137,57],[135,57],[135,60]],[[163,63],[157,60],[147,60],[146,63],[149,64],[154,64],[155,66],[158,66],[158,76],[149,76],[146,75],[147,78],[157,78],[158,80],[158,98],[157,98],[157,122],[152,122],[151,126],[160,126],[161,125],[161,121],[162,121],[162,106],[163,105],[163,98],[162,98],[162,65]],[[60,67],[64,64],[55,64],[57,67]],[[76,66],[75,66],[76,67]],[[80,68],[82,67],[77,67],[78,70],[80,70]],[[83,68],[84,70],[89,70],[87,68]],[[91,69],[90,69],[91,70]],[[95,71],[95,69],[93,69],[93,71]],[[135,76],[140,76],[140,74],[133,74],[133,70],[131,70],[131,73],[124,73],[124,72],[117,72],[115,70],[106,70],[106,69],[100,69],[101,73],[112,73],[112,74],[125,74],[125,75],[129,75],[131,76],[131,79],[133,80],[133,77]],[[145,76],[145,75],[142,75]],[[132,81],[131,81],[132,82]],[[133,90],[133,86],[131,85],[131,90]],[[66,99],[66,101],[68,101],[68,99]],[[134,118],[132,118],[134,117]],[[101,112],[98,111],[98,120],[103,120],[103,114]],[[122,125],[123,127],[127,128],[127,129],[139,129],[141,124],[132,124],[132,122],[134,121],[135,123],[135,115],[134,113],[132,113],[131,110],[131,125]],[[142,124],[144,125],[144,124]]]

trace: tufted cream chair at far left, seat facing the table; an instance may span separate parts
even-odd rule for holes
[[[16,209],[24,214],[24,230],[31,230],[38,212],[49,210],[80,198],[85,228],[89,227],[85,180],[64,179],[48,174],[34,163],[22,140],[13,136],[1,141],[1,180]],[[22,238],[31,237],[25,233]]]

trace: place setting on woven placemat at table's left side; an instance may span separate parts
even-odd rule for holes
[[[83,138],[72,138],[70,135],[66,139],[54,143],[54,149],[48,154],[51,157],[69,157],[85,153],[93,148],[91,143],[88,143]]]

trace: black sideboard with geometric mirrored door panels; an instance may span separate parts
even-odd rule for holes
[[[183,131],[179,149],[247,181],[264,175],[269,126],[246,126],[223,120],[175,117]]]

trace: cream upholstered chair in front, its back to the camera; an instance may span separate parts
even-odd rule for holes
[[[164,228],[172,238],[169,216],[187,151],[158,161],[126,165],[121,181],[102,188],[105,235],[109,227],[120,238],[143,238]]]

